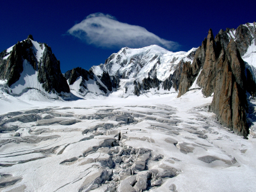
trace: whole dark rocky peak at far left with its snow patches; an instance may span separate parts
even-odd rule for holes
[[[51,47],[30,37],[10,47],[12,49],[1,52],[0,79],[6,80],[11,92],[15,89],[15,94],[31,88],[43,93],[69,93],[68,84],[60,71],[60,61],[52,53]],[[19,84],[22,86],[17,88]]]

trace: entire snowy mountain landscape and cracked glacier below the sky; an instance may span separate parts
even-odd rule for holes
[[[256,26],[61,73],[32,35],[0,53],[0,191],[255,191]]]

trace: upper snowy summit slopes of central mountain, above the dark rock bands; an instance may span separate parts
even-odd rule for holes
[[[108,72],[109,76],[123,76],[125,79],[135,78],[142,81],[144,78],[153,76],[155,73],[157,79],[164,81],[173,74],[175,66],[180,60],[193,61],[191,53],[196,48],[188,52],[171,52],[159,47],[150,45],[141,49],[122,48],[119,52],[112,54],[107,63],[93,66],[93,72],[101,76],[102,72]],[[152,72],[154,70],[154,72]]]

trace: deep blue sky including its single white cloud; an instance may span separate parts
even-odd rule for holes
[[[88,70],[121,47],[201,45],[209,28],[256,21],[256,1],[3,1],[0,52],[29,34],[51,46],[61,72]]]

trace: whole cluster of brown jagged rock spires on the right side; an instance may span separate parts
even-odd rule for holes
[[[221,124],[246,138],[246,91],[255,95],[256,86],[250,70],[244,67],[236,42],[231,39],[227,43],[227,40],[227,33],[223,31],[214,40],[212,30],[209,30],[207,39],[196,51],[193,63],[183,64],[179,97],[189,90],[198,76],[196,84],[202,88],[202,93],[206,97],[214,93],[211,109]]]

